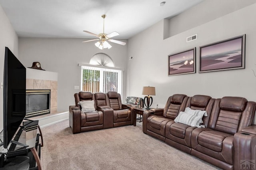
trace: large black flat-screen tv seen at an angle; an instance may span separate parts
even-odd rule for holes
[[[26,67],[8,47],[4,55],[4,148],[26,116]]]

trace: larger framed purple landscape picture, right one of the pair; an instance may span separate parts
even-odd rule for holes
[[[199,73],[245,68],[245,34],[199,47]]]

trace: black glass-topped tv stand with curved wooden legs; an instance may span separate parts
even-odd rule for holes
[[[17,156],[28,156],[30,157],[30,170],[42,170],[40,162],[40,149],[43,146],[42,142],[42,132],[38,126],[38,121],[24,119],[16,136],[14,136],[14,139],[8,145],[8,150],[4,149],[0,144],[0,160],[2,160],[0,167],[7,166],[8,160],[16,158]]]

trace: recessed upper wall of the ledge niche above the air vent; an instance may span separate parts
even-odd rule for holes
[[[170,19],[169,37],[180,34],[231,12],[256,3],[255,0],[204,0]]]

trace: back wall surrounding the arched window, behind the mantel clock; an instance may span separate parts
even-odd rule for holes
[[[82,43],[84,39],[75,38],[19,38],[20,61],[31,67],[34,61],[41,63],[42,69],[58,73],[58,112],[68,111],[74,105],[74,93],[80,90],[81,67],[78,63],[89,64],[96,53],[109,55],[117,68],[123,68],[123,97],[126,97],[126,58],[127,45],[112,43],[112,48],[100,50],[95,42]],[[125,40],[122,40],[125,41]]]

